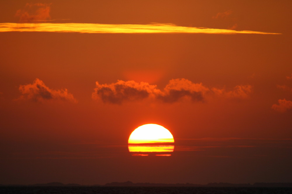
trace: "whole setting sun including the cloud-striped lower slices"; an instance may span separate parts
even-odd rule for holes
[[[174,145],[173,136],[168,129],[158,124],[145,124],[135,129],[128,140],[132,156],[171,156]]]

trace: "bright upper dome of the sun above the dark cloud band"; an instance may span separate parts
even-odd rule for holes
[[[161,125],[145,124],[131,133],[128,143],[174,143],[174,139],[171,132]]]

